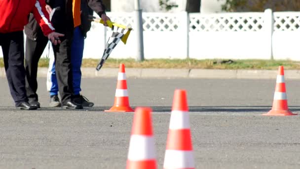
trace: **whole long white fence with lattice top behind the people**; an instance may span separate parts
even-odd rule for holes
[[[125,25],[134,25],[134,12],[109,12],[108,15],[114,22],[123,24],[126,21]],[[184,59],[189,53],[189,57],[195,59],[270,59],[273,56],[274,59],[300,60],[299,18],[300,12],[272,13],[270,10],[192,13],[189,17],[186,12],[143,13],[145,58]],[[152,21],[155,22],[151,24]],[[92,25],[83,57],[100,59],[111,31],[105,37],[103,25]],[[127,44],[119,42],[110,58],[135,58],[137,46],[133,30]],[[43,57],[47,53],[48,48]],[[50,55],[53,55],[52,49]]]

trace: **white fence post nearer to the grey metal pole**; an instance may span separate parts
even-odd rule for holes
[[[183,50],[185,50],[185,55],[187,59],[189,58],[189,15],[188,12],[182,11],[180,12],[180,17],[179,17],[179,35],[182,40],[182,47]]]

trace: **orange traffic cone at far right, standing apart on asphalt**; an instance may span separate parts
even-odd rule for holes
[[[268,113],[265,113],[263,115],[265,116],[297,115],[297,114],[293,114],[288,108],[283,66],[279,66],[278,68],[273,107]]]

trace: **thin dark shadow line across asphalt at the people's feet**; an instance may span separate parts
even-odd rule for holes
[[[149,106],[153,112],[171,112],[171,106]],[[42,107],[33,111],[91,111],[103,112],[110,109],[111,106],[95,106],[91,108],[84,108],[81,110],[62,109],[60,107],[50,108]],[[135,109],[136,107],[131,107]],[[270,106],[189,106],[189,112],[268,112]],[[289,106],[290,111],[300,111],[300,106]],[[19,111],[15,107],[0,107],[0,111]]]

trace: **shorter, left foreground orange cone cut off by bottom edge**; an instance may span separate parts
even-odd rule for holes
[[[126,169],[156,169],[151,109],[135,109]]]

